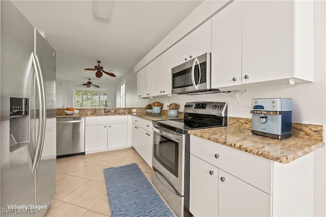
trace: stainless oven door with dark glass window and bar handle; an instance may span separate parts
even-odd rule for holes
[[[184,195],[184,135],[153,125],[152,164],[181,195]]]

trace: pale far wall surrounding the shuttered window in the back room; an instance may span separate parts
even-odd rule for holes
[[[85,89],[106,89],[107,90],[107,104],[108,107],[116,107],[116,93],[115,93],[115,84],[104,84],[98,83],[100,88],[91,86],[90,88],[86,86],[78,86],[80,82],[75,81],[64,81],[64,80],[57,80],[56,81],[56,88],[66,90],[66,107],[73,107],[73,88],[85,88]]]

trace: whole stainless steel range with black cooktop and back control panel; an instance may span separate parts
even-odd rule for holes
[[[227,103],[191,102],[184,106],[184,118],[153,121],[152,182],[174,212],[189,212],[188,130],[228,125]]]

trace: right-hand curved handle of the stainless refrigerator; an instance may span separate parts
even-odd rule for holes
[[[41,91],[42,91],[42,134],[41,134],[41,143],[40,143],[40,151],[39,151],[39,157],[37,158],[37,163],[36,163],[36,169],[40,163],[41,160],[41,156],[42,156],[42,152],[43,152],[43,147],[44,147],[44,138],[45,138],[45,129],[46,129],[46,101],[45,101],[45,88],[44,88],[44,83],[43,83],[43,74],[42,74],[42,70],[41,70],[41,65],[40,65],[40,61],[39,58],[36,54],[36,61],[37,61],[37,65],[39,67],[39,75],[40,75],[40,84],[41,84]]]

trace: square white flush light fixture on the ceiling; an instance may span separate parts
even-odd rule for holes
[[[110,20],[115,1],[93,0],[93,15],[105,20]]]

